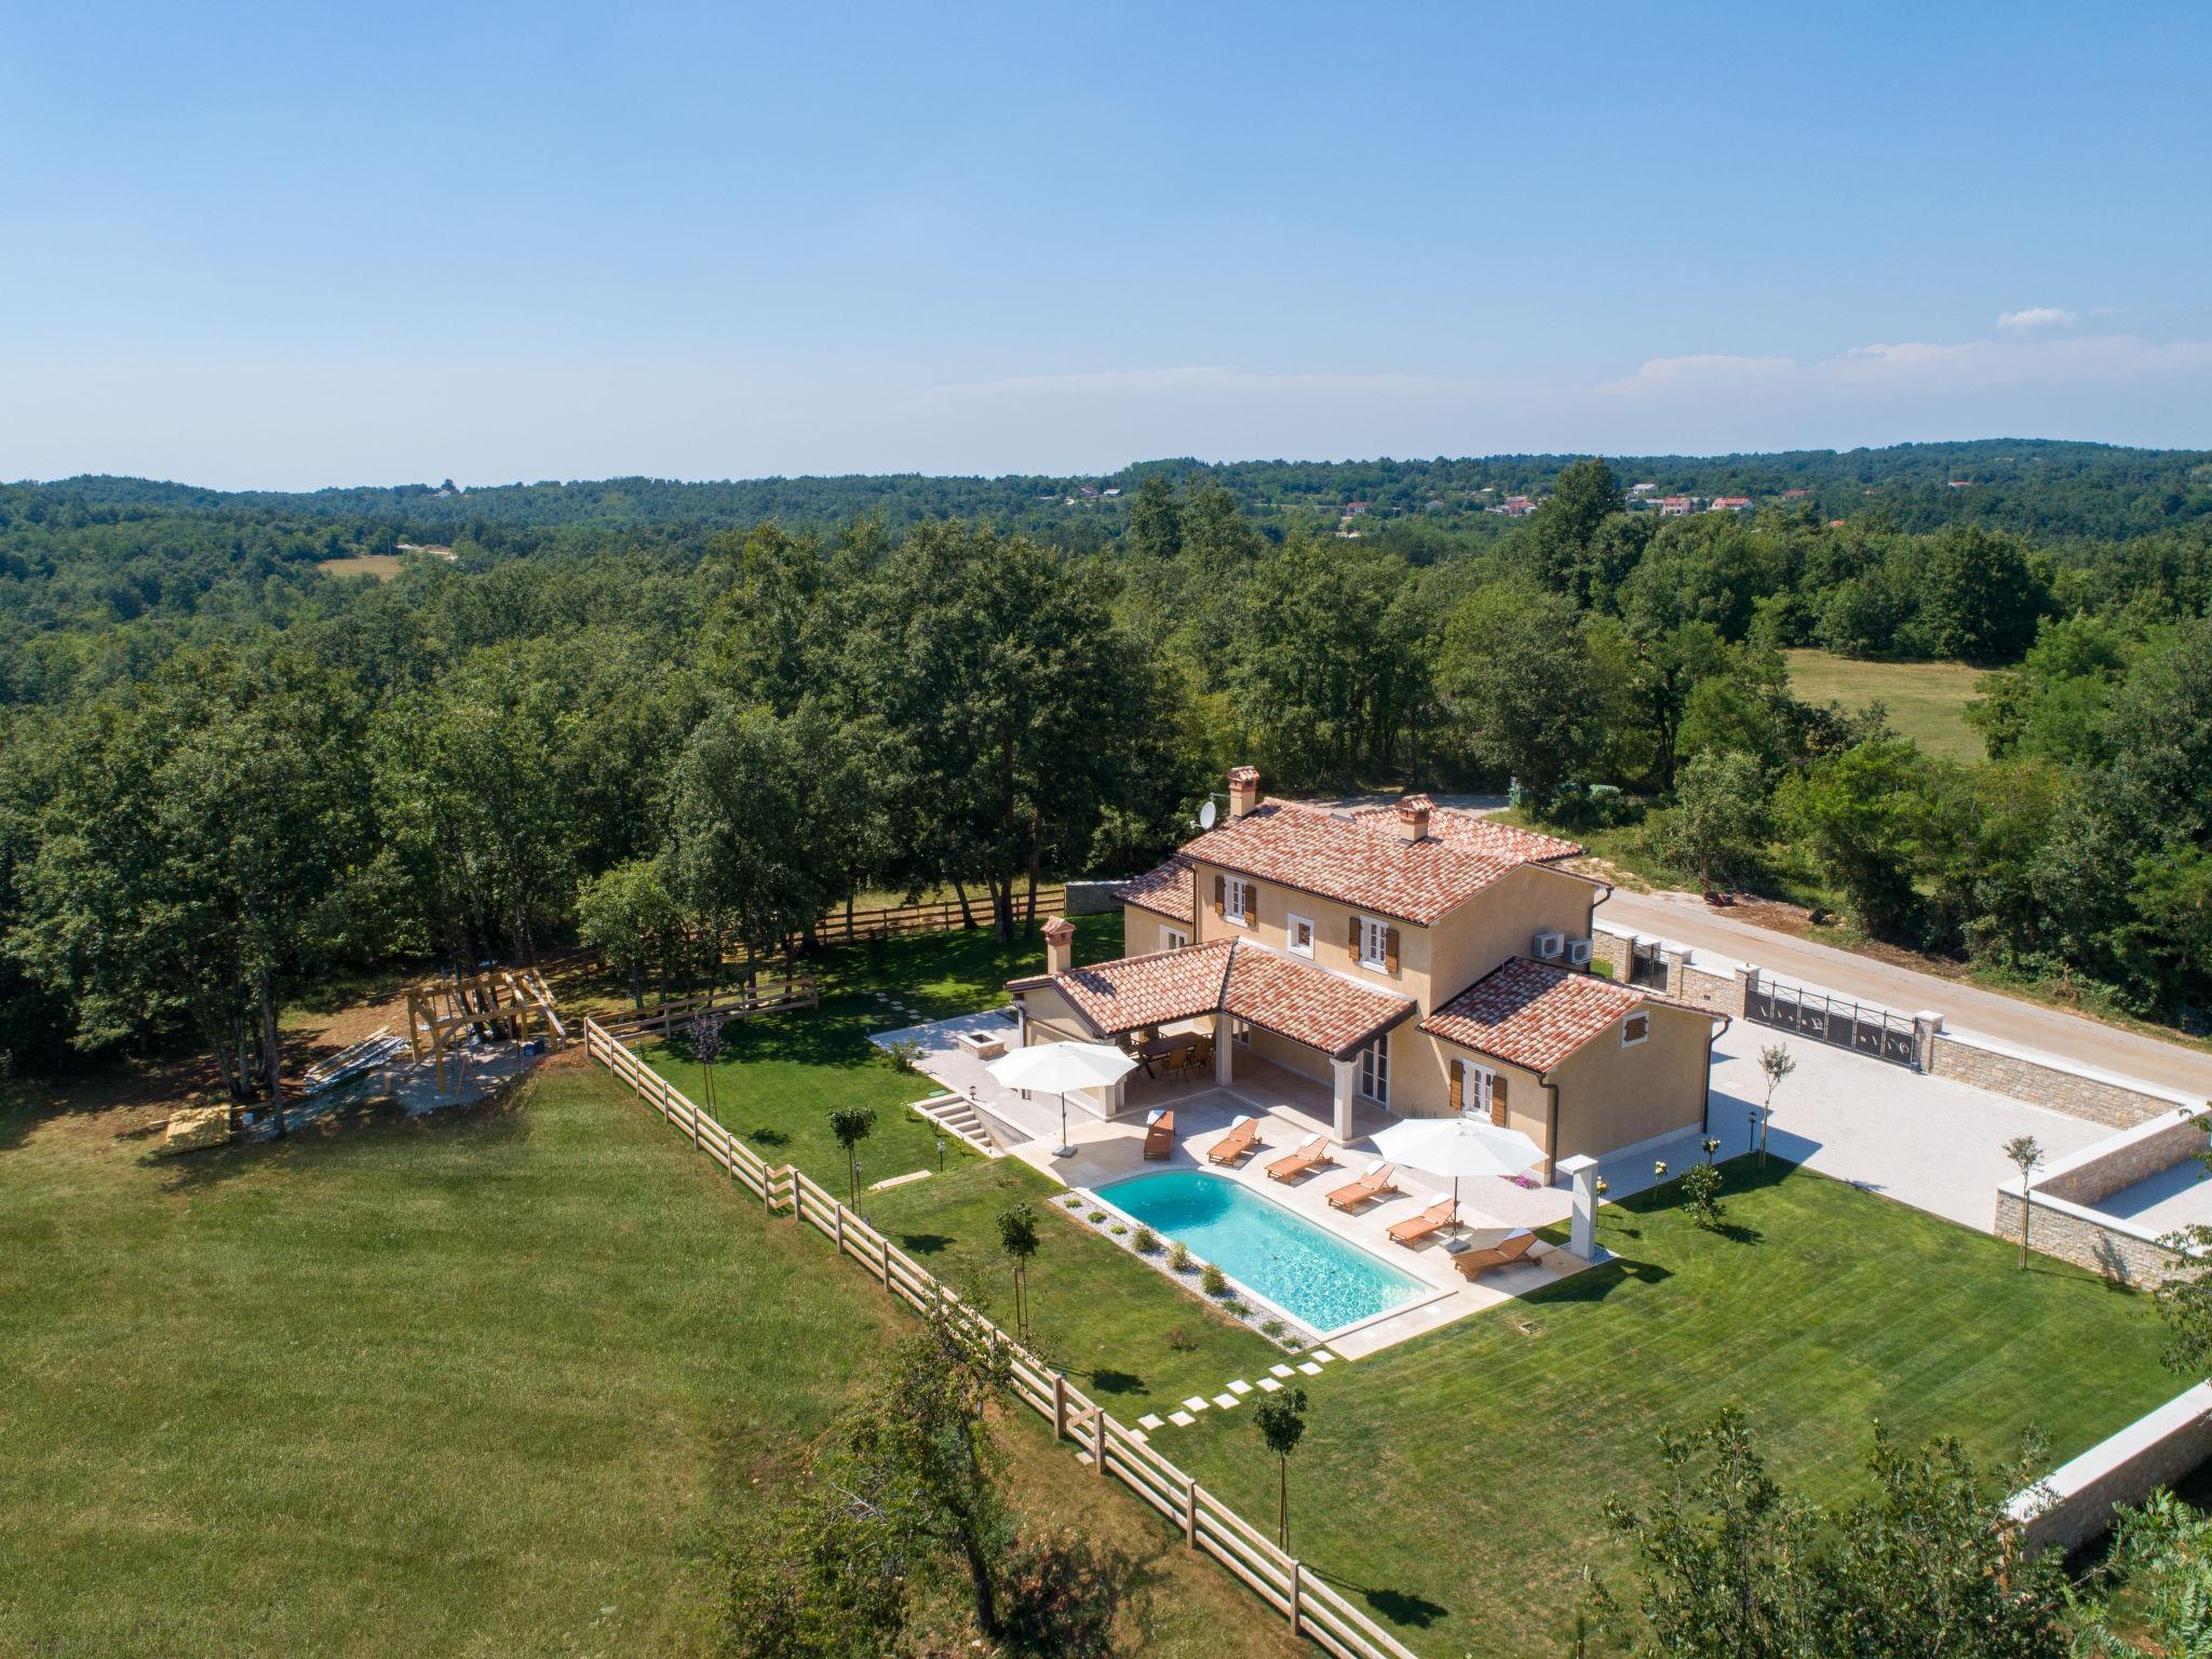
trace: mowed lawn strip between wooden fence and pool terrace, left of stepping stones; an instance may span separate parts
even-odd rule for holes
[[[1077,960],[1113,956],[1119,942],[1119,916],[1077,925]],[[936,1128],[907,1110],[940,1093],[938,1086],[900,1073],[869,1042],[874,1031],[1004,1002],[1004,982],[1033,971],[1042,949],[1040,942],[998,947],[982,933],[933,933],[883,951],[825,953],[821,1009],[726,1026],[723,1057],[714,1064],[717,1117],[768,1161],[796,1164],[845,1194],[845,1152],[830,1133],[830,1113],[872,1106],[876,1126],[860,1141],[863,1217],[1000,1318],[1013,1316],[1013,1279],[998,1248],[998,1217],[1029,1201],[1042,1228],[1031,1263],[1033,1343],[1108,1411],[1135,1422],[1190,1394],[1221,1394],[1234,1378],[1254,1378],[1281,1349],[1057,1212],[1055,1199],[1066,1190],[1020,1159],[984,1159],[947,1139],[940,1170]],[[706,1079],[686,1040],[644,1042],[639,1053],[706,1104]],[[929,1177],[867,1190],[914,1170]]]

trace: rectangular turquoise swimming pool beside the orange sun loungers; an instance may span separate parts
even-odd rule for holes
[[[1221,1267],[1316,1332],[1385,1314],[1429,1285],[1294,1210],[1206,1170],[1133,1175],[1099,1188],[1133,1221]]]

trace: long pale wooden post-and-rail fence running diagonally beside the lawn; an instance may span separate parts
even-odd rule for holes
[[[1009,1389],[1022,1405],[1053,1425],[1053,1438],[1073,1440],[1079,1451],[1088,1453],[1095,1475],[1119,1480],[1181,1531],[1188,1548],[1221,1562],[1245,1588],[1290,1621],[1292,1635],[1305,1637],[1336,1659],[1418,1659],[1411,1648],[1352,1606],[1332,1584],[1307,1573],[1294,1555],[1276,1548],[1252,1522],[1137,1440],[1128,1427],[1108,1416],[1106,1407],[969,1307],[949,1285],[867,1225],[810,1175],[792,1164],[768,1164],[597,1020],[584,1022],[584,1046],[593,1060],[628,1084],[637,1099],[675,1124],[732,1181],[761,1199],[763,1210],[770,1214],[790,1210],[796,1225],[821,1232],[841,1254],[858,1261],[891,1296],[916,1310],[942,1307],[967,1332],[1004,1349]]]

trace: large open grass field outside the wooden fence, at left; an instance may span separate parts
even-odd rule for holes
[[[907,1329],[580,1060],[502,1110],[173,1164],[29,1097],[0,1097],[0,1652],[703,1650],[717,1517]],[[1290,1652],[1011,1433],[1033,1513],[1124,1557],[1130,1648]]]

